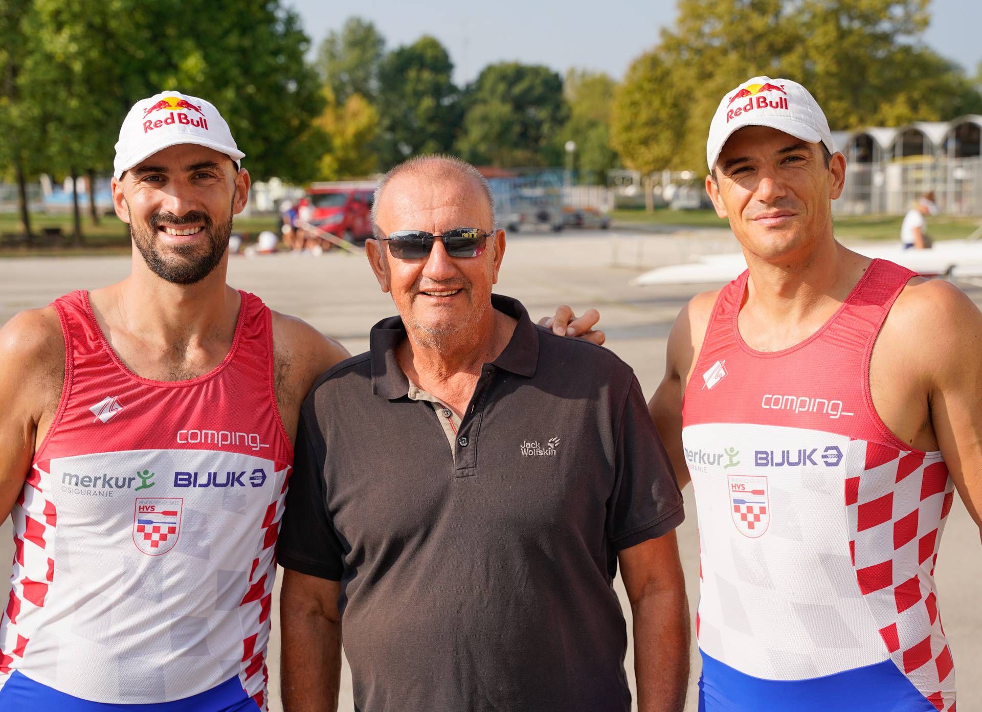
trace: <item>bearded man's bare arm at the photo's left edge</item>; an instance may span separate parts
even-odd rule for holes
[[[64,379],[65,342],[54,308],[23,311],[0,329],[0,522],[24,487]]]

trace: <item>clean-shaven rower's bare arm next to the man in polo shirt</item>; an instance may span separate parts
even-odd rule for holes
[[[672,459],[679,489],[689,480],[685,451],[682,449],[682,395],[695,366],[696,356],[702,348],[706,324],[718,294],[719,292],[703,292],[682,307],[669,334],[665,376],[648,402],[651,419],[654,420],[669,458]]]

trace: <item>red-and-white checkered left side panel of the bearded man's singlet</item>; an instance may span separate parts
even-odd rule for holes
[[[54,541],[58,515],[45,490],[50,475],[34,466],[11,512],[14,523],[14,567],[0,640],[0,687],[24,657],[37,614],[47,601],[55,575]]]

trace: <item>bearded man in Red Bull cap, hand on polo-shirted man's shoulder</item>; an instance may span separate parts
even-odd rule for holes
[[[0,709],[267,707],[300,403],[348,354],[226,284],[244,155],[207,101],[137,102],[112,182],[132,273],[0,331],[0,521],[16,551]],[[555,318],[581,333],[597,315]]]

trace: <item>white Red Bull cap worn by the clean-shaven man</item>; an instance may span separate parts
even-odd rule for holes
[[[821,141],[835,153],[825,113],[808,89],[791,80],[754,77],[727,93],[709,125],[709,170],[734,132],[744,126],[768,126],[809,143]]]

